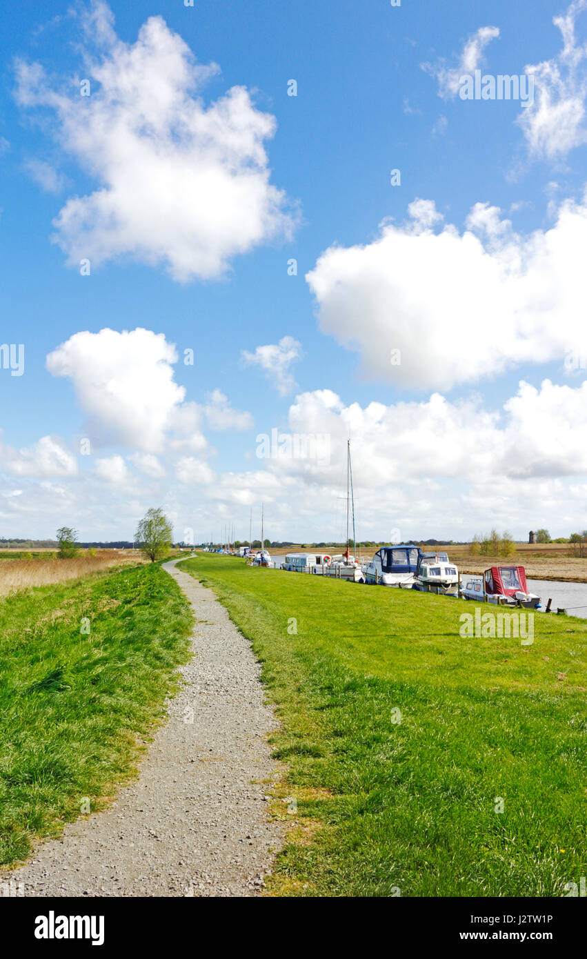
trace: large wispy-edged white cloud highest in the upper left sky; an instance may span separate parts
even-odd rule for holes
[[[17,68],[20,104],[53,110],[62,148],[99,183],[68,199],[55,221],[70,264],[126,255],[187,281],[217,277],[235,255],[292,236],[295,217],[270,184],[264,147],[275,120],[244,86],[203,105],[200,90],[219,68],[197,64],[160,16],[129,44],[97,2],[85,34],[98,52],[84,54],[91,96],[54,85],[38,63]]]

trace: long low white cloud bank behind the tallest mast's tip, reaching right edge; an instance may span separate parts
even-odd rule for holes
[[[290,408],[290,428],[330,436],[326,465],[294,458],[270,460],[273,472],[340,483],[346,439],[352,437],[358,487],[384,490],[389,483],[422,478],[479,481],[559,479],[587,473],[587,381],[539,389],[521,382],[503,409],[486,410],[481,398],[451,403],[439,393],[423,402],[348,407],[331,390],[302,393]],[[481,479],[482,478],[482,479]]]

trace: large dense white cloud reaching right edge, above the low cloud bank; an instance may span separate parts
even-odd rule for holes
[[[365,246],[332,246],[306,276],[320,329],[356,350],[366,375],[448,389],[521,363],[562,366],[573,350],[587,356],[587,195],[528,236],[479,203],[462,234],[452,224],[434,232],[434,204],[422,203],[417,222],[385,222]]]

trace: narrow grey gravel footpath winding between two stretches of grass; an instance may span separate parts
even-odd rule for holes
[[[264,785],[277,775],[267,741],[276,720],[260,667],[212,591],[175,565],[163,569],[200,620],[184,685],[138,780],[2,876],[25,896],[255,896],[283,844]]]

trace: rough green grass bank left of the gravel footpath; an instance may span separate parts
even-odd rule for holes
[[[133,775],[191,622],[158,564],[0,599],[1,864]]]

